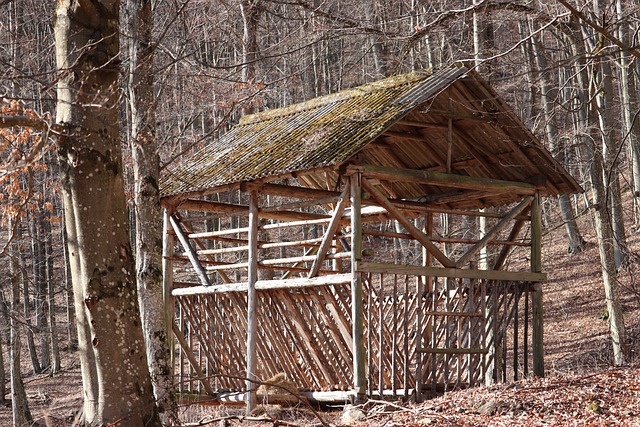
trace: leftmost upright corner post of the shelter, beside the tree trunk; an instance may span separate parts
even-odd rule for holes
[[[167,334],[167,346],[169,347],[171,375],[175,370],[175,352],[174,339],[173,339],[173,323],[175,313],[175,303],[171,296],[171,290],[173,289],[173,229],[169,218],[172,212],[165,208],[162,211],[162,296],[164,302],[164,324],[165,332]]]

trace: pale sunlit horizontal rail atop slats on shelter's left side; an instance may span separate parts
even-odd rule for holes
[[[301,277],[296,279],[258,280],[256,291],[269,291],[275,289],[303,289],[317,286],[343,285],[351,282],[351,273],[331,274],[316,276],[313,278]],[[224,294],[228,292],[247,292],[247,282],[225,283],[215,286],[191,286],[177,288],[171,292],[173,296]]]

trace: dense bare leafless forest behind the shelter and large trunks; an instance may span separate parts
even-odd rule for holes
[[[0,1],[0,271],[8,279],[0,354],[10,359],[3,366],[13,381],[21,370],[58,372],[60,353],[83,342],[74,326],[58,178],[68,152],[53,118],[61,109],[56,87],[77,65],[61,67],[55,57],[60,5],[69,3],[56,9],[54,2]],[[78,1],[80,8],[89,3]],[[94,3],[120,10],[118,2]],[[600,265],[593,269],[602,277],[611,333],[604,360],[633,360],[637,331],[627,331],[624,311],[638,305],[638,260],[628,241],[640,222],[639,2],[158,0],[151,9],[130,0],[121,9],[119,78],[106,87],[118,107],[112,112],[132,247],[151,223],[159,227],[159,212],[144,221],[139,214],[144,180],[137,168],[148,159],[159,160],[162,171],[243,114],[467,61],[585,189],[545,201],[545,226],[562,230],[569,255],[587,248],[585,236],[597,242]],[[140,11],[143,21],[136,20]],[[141,57],[152,60],[140,65]],[[141,121],[152,128],[142,137]],[[18,412],[27,417],[25,410]]]

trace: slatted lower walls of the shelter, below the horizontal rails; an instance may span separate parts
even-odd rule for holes
[[[529,285],[432,278],[425,286],[422,280],[363,273],[369,395],[405,396],[415,388],[418,369],[426,392],[479,385],[487,376],[504,381],[528,374]],[[257,297],[261,379],[282,372],[300,390],[351,390],[348,284],[258,291]],[[246,294],[176,301],[180,328],[214,389],[244,390]],[[187,358],[177,361],[182,391],[197,392]]]

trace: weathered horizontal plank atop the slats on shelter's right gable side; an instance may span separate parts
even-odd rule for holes
[[[361,262],[360,272],[408,274],[412,276],[449,277],[461,279],[486,279],[522,282],[544,282],[545,273],[529,271],[471,270],[461,268],[424,267],[420,265],[397,265],[376,262]]]

